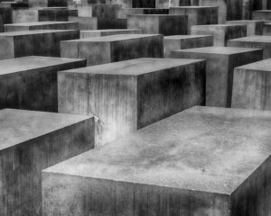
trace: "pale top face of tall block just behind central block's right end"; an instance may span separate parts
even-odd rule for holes
[[[206,54],[216,54],[216,55],[231,55],[243,52],[255,51],[259,49],[251,48],[236,48],[236,47],[202,47],[194,49],[179,49],[173,52],[194,52],[194,53],[206,53]]]

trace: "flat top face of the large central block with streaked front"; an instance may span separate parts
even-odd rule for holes
[[[91,67],[80,67],[66,70],[65,73],[107,74],[138,76],[163,70],[171,67],[179,67],[200,62],[202,60],[184,58],[136,58],[126,61],[118,61]]]

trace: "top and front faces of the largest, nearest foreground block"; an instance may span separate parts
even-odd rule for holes
[[[180,112],[44,170],[44,216],[229,216],[230,194],[269,157],[270,125],[271,112]]]

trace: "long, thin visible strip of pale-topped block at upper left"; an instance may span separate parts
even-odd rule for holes
[[[5,31],[33,31],[33,30],[79,30],[77,22],[32,22],[5,24]]]

